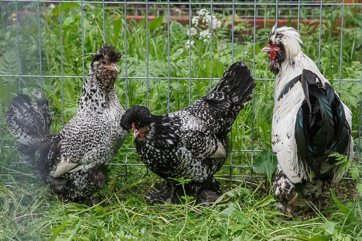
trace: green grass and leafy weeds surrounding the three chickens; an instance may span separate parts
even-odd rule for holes
[[[35,9],[36,3],[18,2],[18,9],[24,6]],[[73,4],[73,3],[72,3]],[[62,4],[62,38],[63,38],[63,74],[64,76],[81,76],[83,74],[81,12],[77,4]],[[0,59],[1,74],[18,74],[16,25],[7,24],[12,21],[9,16],[14,11],[14,2],[1,5],[0,17]],[[97,27],[91,23],[91,15],[102,16],[102,10],[96,4],[84,4],[84,66],[85,70],[91,61],[94,51],[102,44]],[[58,76],[61,74],[60,26],[59,15],[53,10],[41,10],[41,59],[42,74]],[[106,42],[125,53],[125,29],[123,5],[106,7]],[[320,69],[328,79],[339,79],[340,36],[338,20],[341,9],[323,10],[321,31],[321,63]],[[111,13],[113,16],[110,17]],[[224,16],[218,16],[224,17]],[[226,18],[229,16],[225,16]],[[303,16],[302,16],[303,18]],[[360,79],[362,72],[362,26],[361,7],[345,6],[344,35],[342,46],[342,79]],[[100,26],[101,17],[98,17]],[[39,43],[37,16],[25,14],[19,19],[20,65],[23,75],[39,74]],[[201,22],[199,23],[201,24]],[[127,83],[120,78],[115,86],[119,100],[124,107],[131,104],[147,103],[147,39],[146,20],[139,23],[127,22]],[[334,31],[332,31],[334,26]],[[168,96],[168,41],[167,22],[156,18],[148,22],[148,107],[152,113],[161,114],[181,109],[194,102],[210,89],[210,72],[212,78],[219,78],[231,65],[231,31],[227,22],[214,30],[212,38],[212,65],[210,61],[211,42],[191,36],[191,65],[189,70],[188,26],[175,21],[170,23],[170,92]],[[198,26],[199,27],[199,26]],[[253,36],[240,34],[242,31],[252,33],[252,26],[240,23],[235,26],[239,34],[235,34],[233,44],[234,61],[244,60],[253,68]],[[255,45],[255,77],[273,79],[267,67],[267,57],[260,53],[265,45],[265,32],[271,26],[264,26],[256,33]],[[207,29],[203,27],[202,29]],[[318,29],[318,28],[317,28]],[[300,24],[303,39],[303,51],[318,64],[319,31]],[[121,72],[126,75],[126,58],[123,54],[119,62]],[[211,66],[210,66],[211,65]],[[212,71],[211,71],[212,70]],[[189,82],[189,71],[192,78]],[[253,71],[253,69],[252,69]],[[85,72],[85,75],[87,73]],[[186,79],[184,79],[186,78]],[[216,84],[212,80],[212,85]],[[332,83],[339,88],[339,82]],[[39,78],[21,77],[21,91],[25,94],[39,94],[40,85],[50,103],[52,111],[52,130],[58,132],[63,128],[62,82],[58,77]],[[75,114],[81,95],[83,78],[64,78],[64,122]],[[127,87],[127,89],[126,89]],[[359,150],[358,130],[361,101],[361,83],[358,81],[342,81],[341,99],[353,113],[352,134],[355,138],[355,150]],[[108,183],[97,194],[104,200],[96,207],[87,207],[79,203],[63,203],[51,193],[49,187],[43,186],[31,174],[29,167],[19,164],[13,138],[4,121],[9,101],[18,93],[17,77],[0,77],[0,240],[269,240],[278,236],[293,236],[305,240],[358,240],[362,237],[361,196],[350,189],[350,182],[342,182],[338,189],[341,194],[329,195],[328,208],[323,212],[306,213],[309,220],[291,219],[283,216],[273,206],[272,173],[275,166],[270,163],[267,170],[258,169],[258,173],[266,174],[267,179],[236,177],[231,183],[229,175],[250,175],[252,169],[224,167],[217,175],[221,176],[225,197],[228,203],[216,205],[212,209],[192,205],[193,199],[186,197],[177,205],[161,205],[150,207],[144,200],[144,191],[150,188],[157,177],[144,167],[112,165],[107,170]],[[127,95],[126,95],[127,93]],[[168,101],[169,100],[169,101]],[[248,104],[233,125],[232,145],[237,150],[266,150],[263,155],[254,152],[253,161],[269,162],[271,140],[270,127],[273,109],[273,81],[261,80],[254,90],[254,106]],[[113,163],[123,164],[127,155],[128,164],[138,164],[139,158],[132,150],[132,138],[127,138],[115,156]],[[355,159],[359,158],[358,157]],[[235,151],[232,154],[233,165],[250,165],[251,153]],[[230,163],[225,163],[229,165]],[[357,170],[357,169],[354,169]],[[127,175],[125,175],[125,173]],[[355,173],[354,173],[355,174]],[[344,185],[346,187],[344,188]],[[359,182],[357,186],[361,186]],[[359,187],[358,186],[358,187]],[[336,192],[337,192],[337,188]],[[338,201],[339,199],[339,201]],[[190,206],[188,206],[191,204]],[[299,204],[303,204],[299,201]],[[305,203],[304,203],[305,204]]]

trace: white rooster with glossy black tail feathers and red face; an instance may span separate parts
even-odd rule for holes
[[[275,196],[281,199],[277,206],[294,216],[296,186],[304,199],[325,208],[323,195],[346,171],[340,172],[329,155],[353,157],[352,113],[301,45],[298,31],[275,24],[261,50],[268,52],[269,69],[276,75],[271,129],[278,160]]]

